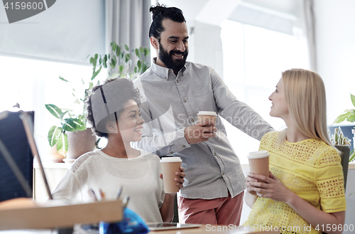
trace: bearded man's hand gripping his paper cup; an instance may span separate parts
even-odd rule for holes
[[[185,128],[184,134],[187,143],[197,144],[216,137],[217,128],[214,127],[215,124],[209,119],[204,119],[204,122],[197,122],[197,124]]]

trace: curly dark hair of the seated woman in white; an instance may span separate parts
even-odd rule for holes
[[[141,104],[138,88],[126,78],[106,80],[102,85],[92,88],[92,94],[87,97],[87,122],[98,137],[107,138],[106,123],[116,121],[124,111],[124,105],[129,100]],[[115,117],[116,113],[116,117]]]

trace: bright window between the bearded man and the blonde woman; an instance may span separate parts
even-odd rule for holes
[[[300,29],[293,28],[293,35],[289,35],[229,20],[221,27],[224,82],[276,130],[282,129],[283,120],[269,115],[268,97],[284,70],[308,68],[307,47]],[[241,164],[247,164],[246,154],[258,151],[259,142],[228,122],[226,131]]]

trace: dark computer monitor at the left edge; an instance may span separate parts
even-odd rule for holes
[[[27,113],[33,124],[34,112]],[[2,114],[0,115],[0,201],[32,197],[33,154],[20,118],[21,112],[1,112],[0,114]],[[15,167],[17,166],[18,171],[21,171],[22,181],[19,181],[18,174],[13,172],[9,155],[13,159],[12,162],[16,164]],[[25,188],[24,184],[26,184]]]

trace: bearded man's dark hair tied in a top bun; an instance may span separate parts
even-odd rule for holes
[[[151,28],[149,28],[149,37],[158,38],[158,41],[160,41],[160,33],[165,29],[163,27],[163,19],[169,18],[174,22],[186,23],[182,11],[176,7],[166,7],[164,4],[156,4],[155,6],[151,6],[149,12],[153,14],[153,22]]]

